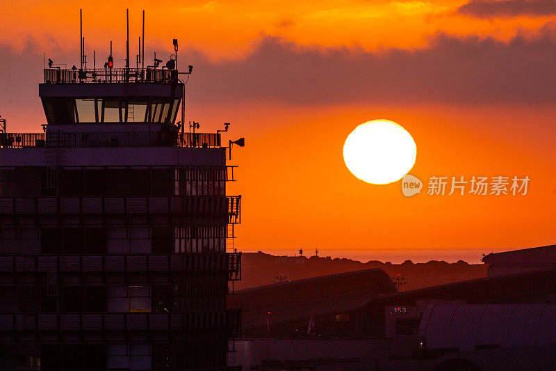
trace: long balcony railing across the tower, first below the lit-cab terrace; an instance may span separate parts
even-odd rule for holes
[[[240,223],[241,196],[0,197],[0,215],[182,214]]]

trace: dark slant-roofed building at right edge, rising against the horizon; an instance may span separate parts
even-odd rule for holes
[[[482,258],[482,262],[488,265],[489,276],[556,269],[556,245],[490,253]]]

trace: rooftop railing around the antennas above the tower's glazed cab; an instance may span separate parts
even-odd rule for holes
[[[96,68],[63,70],[45,68],[44,82],[47,84],[75,83],[150,83],[177,84],[177,70],[158,70],[154,68]]]

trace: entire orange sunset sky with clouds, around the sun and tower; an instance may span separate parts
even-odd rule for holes
[[[240,250],[292,255],[318,246],[320,255],[363,260],[477,262],[480,253],[556,240],[556,10],[529,0],[516,14],[522,1],[487,8],[491,15],[479,0],[165,1],[145,8],[145,49],[165,58],[179,38],[180,64],[195,65],[188,119],[201,131],[231,122],[230,139],[246,138],[234,149],[240,168],[229,187],[243,194]],[[126,6],[132,40],[140,35],[140,6],[79,6],[99,60],[111,39],[122,56]],[[42,52],[79,61],[79,6],[2,6],[0,113],[10,131],[44,122]],[[8,73],[14,65],[26,77]],[[434,197],[423,189],[406,198],[400,182],[361,182],[343,164],[343,141],[375,118],[411,133],[411,174],[425,183],[528,175],[529,194]]]

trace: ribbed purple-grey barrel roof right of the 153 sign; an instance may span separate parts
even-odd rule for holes
[[[427,348],[475,349],[476,345],[525,347],[556,344],[554,304],[431,304],[419,335]]]

